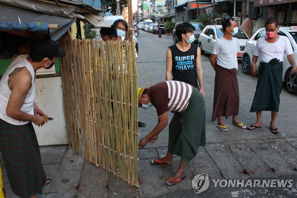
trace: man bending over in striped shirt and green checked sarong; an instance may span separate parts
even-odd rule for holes
[[[147,89],[138,88],[138,107],[157,110],[158,124],[147,136],[140,139],[139,148],[154,143],[168,125],[168,111],[174,111],[169,124],[168,151],[165,157],[152,160],[152,165],[171,165],[172,156],[181,156],[176,173],[165,181],[176,185],[186,178],[184,168],[192,160],[199,146],[206,146],[205,100],[193,86],[180,81],[164,81]]]

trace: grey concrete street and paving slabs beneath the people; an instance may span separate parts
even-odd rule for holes
[[[144,43],[152,34],[141,32],[138,42]],[[142,38],[143,37],[143,38]],[[143,39],[143,40],[142,40]],[[145,40],[139,46],[138,61],[165,60],[167,46],[172,45],[172,37],[162,35]],[[156,47],[157,45],[157,47]],[[149,49],[157,48],[156,52]],[[164,53],[158,53],[163,51]],[[145,57],[143,54],[154,54]],[[202,56],[203,60],[209,55]],[[185,169],[186,179],[176,186],[166,186],[164,181],[172,176],[180,158],[174,156],[172,166],[151,165],[152,159],[166,155],[168,127],[159,135],[154,144],[147,144],[138,151],[138,179],[140,188],[135,188],[121,179],[84,160],[67,146],[40,147],[45,172],[52,182],[43,188],[43,194],[37,197],[296,197],[297,196],[297,134],[295,95],[282,90],[280,110],[276,120],[280,130],[278,135],[269,129],[270,112],[263,112],[262,128],[252,131],[232,125],[232,118],[224,120],[228,131],[220,131],[216,122],[211,122],[214,70],[208,61],[203,61],[204,91],[206,93],[206,140],[207,146],[200,147],[197,156],[188,162]],[[240,109],[238,120],[245,125],[254,124],[256,114],[249,109],[255,93],[257,79],[244,75],[239,63]],[[165,80],[165,63],[138,63],[138,85],[147,87]],[[168,113],[170,121],[173,114]],[[139,108],[139,120],[146,127],[139,128],[139,140],[156,126],[158,117],[153,108]],[[7,197],[16,197],[9,186],[5,166],[1,159],[4,185]],[[192,178],[207,173],[209,188],[195,194]],[[215,187],[213,180],[245,180],[252,182],[268,179],[293,180],[292,187]],[[222,183],[224,184],[224,183]],[[274,186],[274,185],[273,185]]]

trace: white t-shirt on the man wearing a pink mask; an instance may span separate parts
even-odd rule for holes
[[[254,51],[254,55],[260,56],[260,61],[263,62],[269,62],[274,58],[284,61],[284,53],[286,55],[293,54],[292,45],[286,36],[279,36],[279,40],[274,43],[268,43],[265,37],[261,37],[257,40]]]

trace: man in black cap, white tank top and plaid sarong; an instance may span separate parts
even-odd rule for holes
[[[1,153],[12,191],[20,197],[36,197],[51,182],[43,170],[32,125],[47,122],[42,117],[47,115],[34,103],[35,75],[65,55],[54,40],[40,39],[29,55],[20,55],[9,65],[0,81]]]

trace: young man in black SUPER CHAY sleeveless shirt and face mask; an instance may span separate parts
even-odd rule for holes
[[[195,40],[195,27],[188,22],[176,26],[176,36],[179,42],[169,47],[166,53],[166,81],[181,81],[203,90],[203,72],[201,66],[201,53],[198,45],[193,44]],[[199,81],[199,86],[197,83]]]

